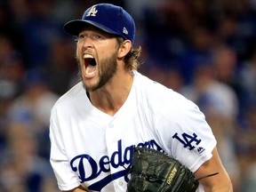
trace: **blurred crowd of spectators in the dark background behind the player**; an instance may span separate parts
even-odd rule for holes
[[[234,191],[255,191],[256,0],[0,0],[0,192],[59,191],[49,117],[79,81],[62,27],[102,2],[132,14],[140,72],[204,112]]]

